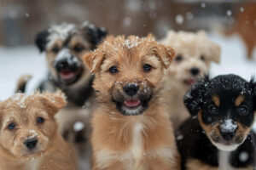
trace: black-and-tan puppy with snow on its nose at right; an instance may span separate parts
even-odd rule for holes
[[[256,82],[236,75],[207,77],[186,94],[191,118],[179,128],[183,169],[253,169]]]

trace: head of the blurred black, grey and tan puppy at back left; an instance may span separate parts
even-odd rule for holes
[[[69,86],[90,76],[82,56],[96,48],[106,34],[104,28],[88,22],[81,26],[64,23],[38,33],[36,44],[41,52],[46,53],[49,71],[55,82]]]

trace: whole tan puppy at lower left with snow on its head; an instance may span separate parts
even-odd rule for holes
[[[64,95],[15,94],[0,103],[0,169],[76,169],[73,150],[58,132]]]

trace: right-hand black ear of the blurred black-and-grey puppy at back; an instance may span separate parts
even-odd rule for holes
[[[108,34],[107,30],[104,27],[94,26],[88,21],[85,21],[81,25],[81,27],[87,35],[90,43],[92,44],[92,49],[96,48],[96,45],[101,42],[102,38],[106,37]]]

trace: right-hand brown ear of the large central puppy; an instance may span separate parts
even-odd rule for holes
[[[175,51],[171,47],[158,43],[156,55],[159,57],[162,65],[167,69],[171,65],[172,59],[175,57]]]

